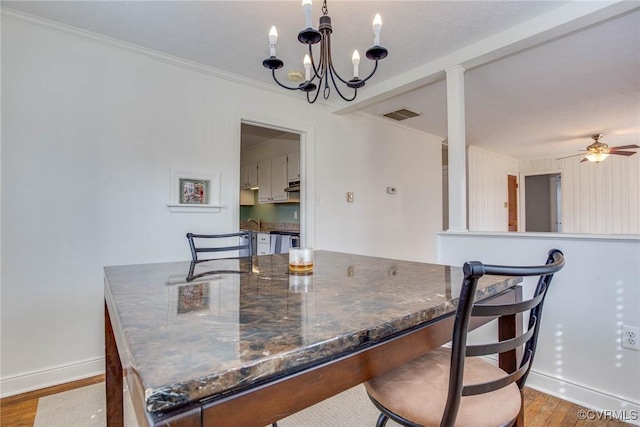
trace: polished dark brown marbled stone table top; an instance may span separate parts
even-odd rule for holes
[[[162,411],[225,395],[364,348],[455,310],[462,269],[316,251],[312,275],[288,255],[105,267],[105,301],[124,366]],[[519,278],[485,276],[477,299]],[[124,348],[122,348],[124,347]]]

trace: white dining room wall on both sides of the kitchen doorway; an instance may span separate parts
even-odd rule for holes
[[[5,12],[2,56],[3,396],[103,370],[103,266],[188,259],[186,232],[238,226],[241,117],[309,131],[316,248],[435,259],[429,136]],[[225,208],[169,212],[171,167],[220,172]]]

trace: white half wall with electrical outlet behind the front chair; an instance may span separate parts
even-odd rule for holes
[[[640,238],[548,233],[440,233],[438,262],[565,268],[545,302],[528,386],[587,407],[640,410],[640,352],[621,347],[621,325],[640,325]],[[525,282],[525,295],[535,283]],[[638,420],[635,421],[636,423]]]

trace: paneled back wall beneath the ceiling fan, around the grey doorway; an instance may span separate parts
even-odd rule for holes
[[[562,174],[566,233],[640,233],[640,155],[609,156],[601,163],[539,159],[519,163],[521,174]]]

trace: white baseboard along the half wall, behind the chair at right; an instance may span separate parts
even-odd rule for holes
[[[601,390],[594,390],[584,385],[562,381],[534,370],[529,372],[527,387],[598,411],[597,413],[587,414],[590,417],[595,418],[605,415],[611,417],[610,414],[612,414],[615,418],[624,417],[625,419],[622,421],[640,426],[639,402],[614,396]]]

